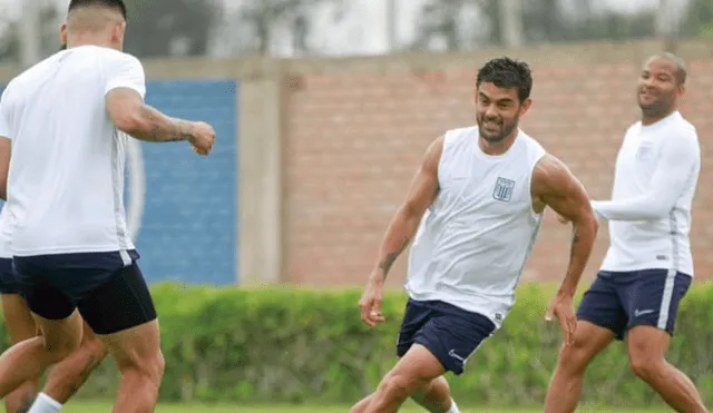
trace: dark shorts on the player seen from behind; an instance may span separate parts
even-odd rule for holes
[[[156,318],[144,275],[130,252],[40,255],[13,258],[28,307],[48,319],[76,308],[97,334],[113,334]]]

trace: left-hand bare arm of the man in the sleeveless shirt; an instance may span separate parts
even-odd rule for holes
[[[393,263],[416,235],[426,209],[438,195],[438,164],[442,151],[443,137],[440,137],[426,151],[426,156],[411,180],[406,200],[401,204],[387,228],[377,263],[369,276],[364,294],[359,302],[362,319],[370,326],[383,321],[381,315],[383,282],[387,279]]]

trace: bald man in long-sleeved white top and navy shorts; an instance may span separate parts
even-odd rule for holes
[[[574,412],[592,360],[626,338],[632,371],[677,412],[707,412],[695,385],[665,353],[693,279],[691,204],[701,168],[695,128],[677,110],[685,62],[647,59],[638,79],[642,118],[616,159],[612,200],[592,205],[608,220],[611,245],[577,311],[574,345],[559,353],[547,413]]]

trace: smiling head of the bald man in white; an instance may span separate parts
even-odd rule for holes
[[[638,107],[645,118],[662,118],[676,108],[684,85],[680,68],[671,59],[648,59],[638,78]]]

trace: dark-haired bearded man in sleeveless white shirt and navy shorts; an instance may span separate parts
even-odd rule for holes
[[[507,317],[547,206],[575,229],[546,318],[557,317],[567,343],[574,336],[573,296],[597,234],[589,199],[569,169],[518,127],[531,105],[529,67],[491,60],[476,86],[478,126],[450,130],[428,148],[360,301],[364,323],[384,321],[384,278],[412,242],[401,360],[352,413],[395,412],[409,396],[430,412],[459,411],[443,374],[461,374]]]

